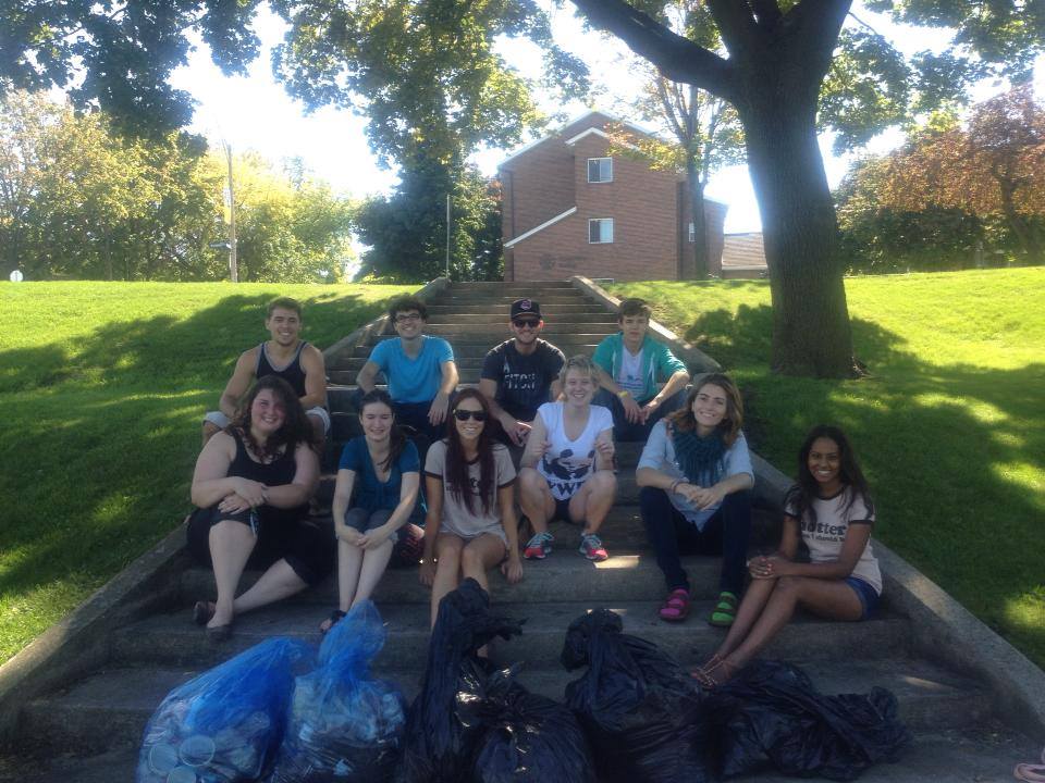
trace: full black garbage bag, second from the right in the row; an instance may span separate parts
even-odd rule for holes
[[[699,688],[671,656],[622,629],[617,614],[597,609],[570,623],[563,646],[567,670],[588,666],[566,686],[566,704],[588,734],[600,780],[712,780]]]

